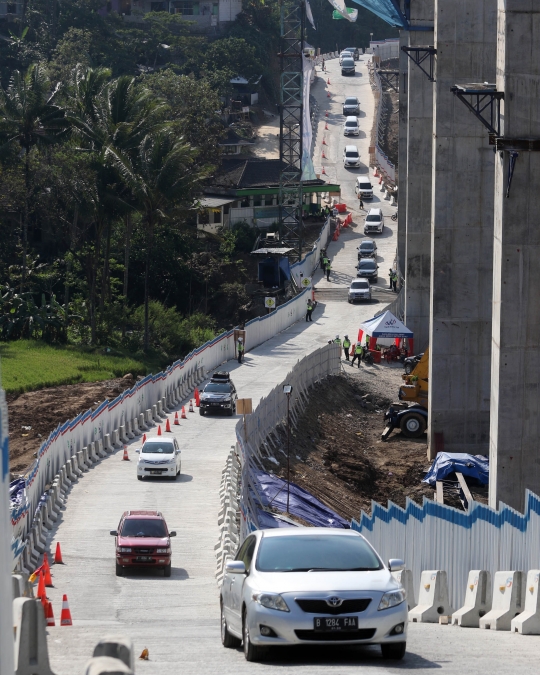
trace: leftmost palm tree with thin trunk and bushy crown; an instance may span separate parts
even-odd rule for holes
[[[5,144],[17,143],[24,152],[21,292],[26,283],[31,193],[30,153],[36,146],[56,143],[66,131],[64,110],[56,102],[59,90],[58,84],[51,91],[45,69],[39,63],[31,65],[24,75],[18,70],[13,71],[8,88],[0,88],[0,137]]]

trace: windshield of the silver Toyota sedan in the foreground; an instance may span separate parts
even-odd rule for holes
[[[382,569],[375,552],[361,537],[339,534],[263,537],[256,566],[261,572]]]

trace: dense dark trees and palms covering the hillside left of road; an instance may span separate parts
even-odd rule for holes
[[[253,233],[201,239],[195,219],[231,78],[262,74],[276,100],[279,8],[244,0],[210,39],[102,5],[28,0],[0,29],[0,339],[171,359],[244,318]],[[328,24],[326,49],[354,28]]]

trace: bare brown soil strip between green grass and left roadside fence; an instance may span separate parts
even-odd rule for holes
[[[129,374],[104,382],[83,382],[8,395],[11,473],[25,473],[36,458],[39,446],[57,426],[90,408],[95,410],[105,399],[116,398],[134,384],[135,379]]]

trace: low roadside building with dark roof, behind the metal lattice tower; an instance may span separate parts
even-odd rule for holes
[[[279,221],[279,177],[281,160],[257,157],[225,157],[201,197],[197,228],[217,232],[247,222],[269,228]],[[339,185],[321,178],[304,181],[304,211],[317,210],[323,199],[339,196]]]

